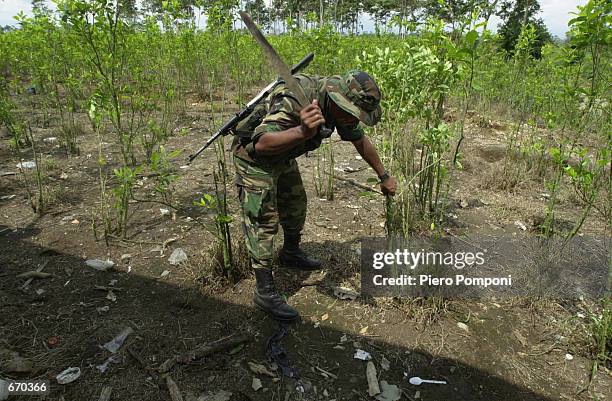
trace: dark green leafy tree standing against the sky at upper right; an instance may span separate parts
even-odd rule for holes
[[[524,27],[532,25],[535,28],[535,40],[531,55],[542,56],[542,47],[552,40],[542,18],[536,18],[541,11],[538,0],[506,0],[502,3],[498,16],[504,21],[499,28],[500,45],[510,55]]]

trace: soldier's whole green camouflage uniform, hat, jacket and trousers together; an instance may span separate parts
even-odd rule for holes
[[[365,103],[362,99],[363,93],[359,93],[363,88],[350,87],[351,78],[358,73],[351,71],[344,77],[306,74],[295,76],[304,88],[307,98],[318,101],[326,127],[330,132],[336,128],[340,138],[345,141],[362,138],[363,130],[359,125],[336,127],[329,107],[332,99],[342,109],[368,125],[373,125],[380,119],[380,96],[371,99],[371,104],[367,104],[367,99]],[[371,78],[365,84],[375,85]],[[282,154],[264,156],[255,152],[255,143],[264,133],[280,132],[299,126],[299,110],[295,97],[284,84],[280,84],[266,101],[235,129],[237,135],[233,144],[233,160],[236,167],[236,184],[242,206],[243,230],[254,269],[272,267],[274,237],[278,232],[279,222],[285,232],[299,234],[306,220],[306,192],[295,158],[321,146],[325,139],[321,131]]]

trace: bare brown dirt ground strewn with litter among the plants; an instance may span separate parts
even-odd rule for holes
[[[179,127],[189,134],[172,137],[167,145],[182,149],[184,155],[199,147],[211,124],[202,102],[189,104]],[[453,222],[449,226],[457,233],[522,233],[517,221],[531,230],[543,216],[546,197],[541,182],[525,178],[512,191],[488,184],[503,163],[506,130],[503,124],[468,124],[464,169],[453,178],[456,206],[448,211]],[[221,285],[206,272],[214,240],[206,226],[212,217],[193,201],[213,192],[212,151],[188,169],[177,169],[176,197],[182,208],[175,216],[162,215],[164,206],[155,203],[134,203],[128,239],[112,240],[107,246],[92,234],[99,194],[95,138],[86,134],[80,140],[80,156],[67,157],[57,145],[42,141],[57,136],[53,124],[34,128],[34,135],[45,154],[50,186],[60,195],[44,216],[36,218],[19,174],[0,174],[0,351],[17,352],[27,362],[19,373],[10,371],[4,361],[0,377],[47,379],[51,394],[14,399],[98,399],[102,388],[111,386],[113,400],[169,400],[156,371],[164,361],[242,334],[250,338],[244,345],[170,370],[185,400],[220,390],[231,392],[236,401],[374,399],[368,395],[366,362],[354,358],[356,349],[371,354],[378,379],[398,386],[406,400],[603,400],[612,394],[612,378],[605,369],[589,380],[588,319],[581,301],[434,305],[422,299],[337,299],[334,286],[359,288],[360,239],[384,235],[383,200],[361,196],[363,189],[342,180],[335,183],[333,201],[319,199],[313,183],[314,155],[299,159],[309,196],[304,241],[305,249],[325,268],[311,274],[277,270],[278,286],[302,316],[281,341],[301,380],[283,377],[266,357],[265,340],[277,324],[253,307],[253,278]],[[118,160],[110,145],[104,151],[111,163]],[[338,177],[367,185],[374,174],[351,144],[335,141],[334,152]],[[3,137],[0,172],[17,172],[18,162]],[[141,178],[139,197],[150,192],[151,180]],[[237,218],[234,188],[230,195]],[[571,197],[561,199],[562,221],[576,220],[579,212]],[[232,224],[237,232],[238,220]],[[602,235],[605,225],[594,215],[584,231]],[[168,257],[178,247],[189,260],[172,266]],[[92,258],[116,264],[109,271],[97,271],[84,263]],[[41,265],[52,276],[21,289],[25,280],[16,275]],[[134,332],[102,372],[99,365],[113,354],[101,346],[128,326]],[[388,369],[383,368],[386,361]],[[253,373],[248,362],[265,365],[273,377]],[[68,367],[79,367],[80,377],[58,384],[55,377]],[[448,384],[417,387],[408,382],[412,376]],[[261,380],[258,391],[252,387],[253,378]],[[296,390],[299,384],[304,392]]]

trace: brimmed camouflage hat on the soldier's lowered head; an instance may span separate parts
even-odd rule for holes
[[[334,103],[365,125],[380,121],[380,89],[368,73],[351,70],[342,77],[334,75],[327,79],[325,87]]]

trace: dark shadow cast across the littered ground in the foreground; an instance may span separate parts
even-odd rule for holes
[[[0,232],[3,228],[0,226]],[[0,234],[0,348],[17,351],[33,362],[29,372],[0,371],[2,377],[51,379],[48,400],[97,399],[105,385],[112,386],[112,399],[169,400],[168,390],[158,386],[155,378],[130,356],[128,347],[140,354],[145,364],[157,367],[168,357],[202,343],[249,333],[253,340],[233,353],[221,352],[175,367],[171,375],[183,394],[197,396],[224,389],[234,392],[234,400],[314,400],[321,398],[325,390],[329,394],[326,399],[370,399],[365,362],[353,358],[352,341],[343,344],[345,349],[339,349],[344,333],[324,322],[319,328],[311,323],[293,325],[282,342],[302,378],[312,384],[310,391],[298,394],[293,390],[293,379],[274,383],[264,376],[260,377],[264,389],[255,392],[251,388],[253,374],[246,362],[266,363],[263,344],[276,324],[250,306],[250,285],[221,296],[204,296],[187,281],[151,279],[135,270],[128,273],[123,267],[96,271],[74,256],[80,254],[78,249],[69,254],[30,242],[33,230]],[[45,261],[48,264],[44,271],[53,277],[37,279],[28,290],[20,290],[24,280],[15,276]],[[109,299],[112,280],[117,280],[112,285],[116,288],[116,301]],[[111,354],[100,345],[125,326],[132,327],[135,333],[116,354],[116,361],[102,373],[97,366]],[[383,371],[377,363],[379,379],[406,389],[405,399],[413,399],[416,390],[422,400],[550,399],[453,359],[433,357],[375,338],[353,339],[360,341],[376,362],[383,354],[390,359],[389,371]],[[337,379],[313,372],[313,365],[333,373]],[[53,378],[68,367],[80,367],[80,378],[67,385],[57,384]],[[447,380],[449,384],[416,388],[404,377],[406,370],[411,376]]]

